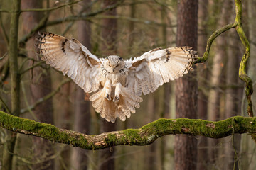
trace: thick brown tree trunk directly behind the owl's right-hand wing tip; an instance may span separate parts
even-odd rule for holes
[[[197,0],[178,1],[176,45],[197,47]],[[196,118],[197,114],[196,71],[176,81],[176,118]],[[175,136],[175,169],[196,169],[197,141],[194,137]]]

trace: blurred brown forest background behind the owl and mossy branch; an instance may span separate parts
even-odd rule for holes
[[[177,26],[184,25],[180,23],[181,13],[192,10],[198,18],[189,25],[191,35],[188,36],[192,36],[195,43],[197,40],[197,47],[191,46],[201,57],[210,35],[234,22],[233,0],[193,0],[193,5],[183,7],[178,4],[184,0],[21,0],[20,9],[18,1],[0,1],[0,111],[91,135],[140,128],[159,118],[223,120],[235,115],[247,116],[245,83],[238,77],[245,47],[235,28],[219,35],[207,62],[196,64],[194,71],[182,78],[192,79],[196,84],[186,89],[196,95],[193,111],[188,110],[185,116],[177,113],[178,107],[187,105],[179,99],[183,96],[183,89],[179,89],[183,80],[178,79],[160,86],[153,94],[142,96],[144,101],[137,112],[125,122],[117,120],[114,124],[100,118],[88,99],[90,94],[44,64],[34,47],[38,31],[76,38],[97,57],[116,54],[127,59],[156,47],[190,45],[181,43],[182,33]],[[15,8],[18,9],[16,25],[12,22],[15,15],[11,15]],[[191,20],[196,16],[187,18]],[[254,89],[255,18],[256,0],[243,0],[242,26],[251,52],[247,74]],[[12,42],[16,36],[18,42]],[[18,62],[12,60],[13,55],[18,55]],[[20,83],[14,86],[14,79]],[[20,89],[20,96],[11,92],[16,89]],[[254,112],[255,102],[256,96],[252,94]],[[90,151],[0,128],[0,169],[178,170],[185,169],[180,168],[180,164],[186,162],[192,164],[190,169],[198,170],[256,169],[256,145],[250,135],[236,134],[234,139],[232,136],[210,139],[186,135],[186,140],[193,141],[190,142],[193,145],[181,146],[187,148],[185,151],[177,150],[181,140],[177,136],[180,135],[166,135],[143,147],[122,145]]]

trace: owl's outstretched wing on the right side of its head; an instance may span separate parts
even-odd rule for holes
[[[188,73],[197,57],[191,47],[170,47],[145,52],[133,60],[126,60],[129,69],[126,86],[138,96],[149,94],[164,83]]]

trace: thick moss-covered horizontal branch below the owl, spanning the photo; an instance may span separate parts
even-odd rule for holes
[[[53,142],[92,150],[117,145],[149,145],[164,135],[185,134],[221,138],[233,133],[255,134],[256,118],[235,116],[217,122],[186,118],[159,119],[139,129],[106,132],[100,135],[85,135],[0,111],[0,126],[12,132],[42,137]]]

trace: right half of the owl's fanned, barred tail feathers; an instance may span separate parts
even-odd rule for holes
[[[142,98],[132,94],[132,91],[121,86],[120,99],[116,104],[116,112],[120,120],[125,121],[126,117],[131,117],[131,113],[135,113],[135,108],[139,108],[139,103],[142,102]]]

